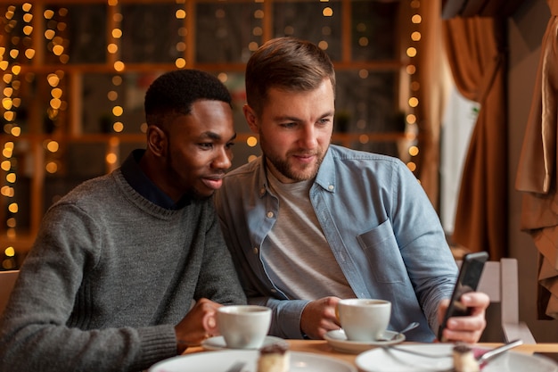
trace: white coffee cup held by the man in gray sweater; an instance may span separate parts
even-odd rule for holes
[[[271,325],[271,309],[257,305],[222,306],[217,309],[217,327],[231,349],[258,349]]]

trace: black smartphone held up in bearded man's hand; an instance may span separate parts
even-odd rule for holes
[[[447,319],[451,317],[464,317],[469,315],[470,309],[460,302],[464,293],[474,292],[479,285],[480,275],[484,269],[484,263],[488,260],[488,252],[474,252],[464,255],[459,275],[455,282],[454,292],[451,295],[446,315],[439,326],[438,339],[446,342],[442,337],[442,331],[446,328]]]

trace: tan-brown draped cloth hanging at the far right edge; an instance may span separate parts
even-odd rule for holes
[[[538,251],[538,318],[558,318],[558,1],[548,0],[552,13],[542,40],[535,90],[515,188],[522,194],[521,230]]]

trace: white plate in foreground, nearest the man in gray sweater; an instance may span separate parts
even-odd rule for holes
[[[235,362],[243,361],[242,372],[257,372],[259,351],[221,350],[181,355],[162,360],[149,372],[225,372]],[[310,352],[291,351],[289,372],[357,372],[349,363]]]

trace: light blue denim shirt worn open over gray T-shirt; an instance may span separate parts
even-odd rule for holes
[[[433,341],[438,304],[450,297],[457,268],[439,217],[413,173],[397,158],[331,145],[309,196],[357,296],[389,300],[391,329],[418,321],[421,326],[407,339]],[[308,301],[287,299],[267,276],[260,254],[279,211],[264,159],[228,173],[215,202],[249,302],[274,310],[271,335],[302,337],[300,315]]]

